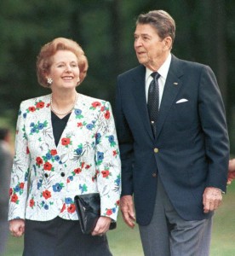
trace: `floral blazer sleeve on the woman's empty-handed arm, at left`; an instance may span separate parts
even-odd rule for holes
[[[30,154],[25,130],[26,114],[20,104],[14,143],[14,162],[10,182],[9,220],[25,218]]]

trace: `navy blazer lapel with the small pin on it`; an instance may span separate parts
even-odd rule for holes
[[[156,138],[158,138],[160,131],[163,128],[164,120],[169,113],[169,109],[175,102],[175,97],[181,89],[182,75],[183,73],[180,68],[180,61],[174,55],[172,55],[172,60],[169,66],[169,73],[166,79],[166,83],[164,85],[163,98],[158,113]]]

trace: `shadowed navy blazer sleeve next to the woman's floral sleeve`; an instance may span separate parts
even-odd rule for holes
[[[134,139],[125,115],[123,113],[121,81],[117,78],[116,92],[116,125],[117,138],[122,160],[122,195],[133,194],[133,165],[134,165]]]

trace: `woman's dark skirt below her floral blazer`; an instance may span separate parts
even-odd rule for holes
[[[112,256],[106,236],[84,235],[77,220],[26,219],[23,256]]]

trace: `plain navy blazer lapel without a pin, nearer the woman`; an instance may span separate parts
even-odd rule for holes
[[[146,131],[149,136],[152,137],[152,128],[149,121],[147,104],[146,104],[146,67],[140,66],[136,69],[135,75],[133,76],[133,87],[132,93],[135,96],[135,104],[140,112],[140,116],[143,124],[146,127]]]

